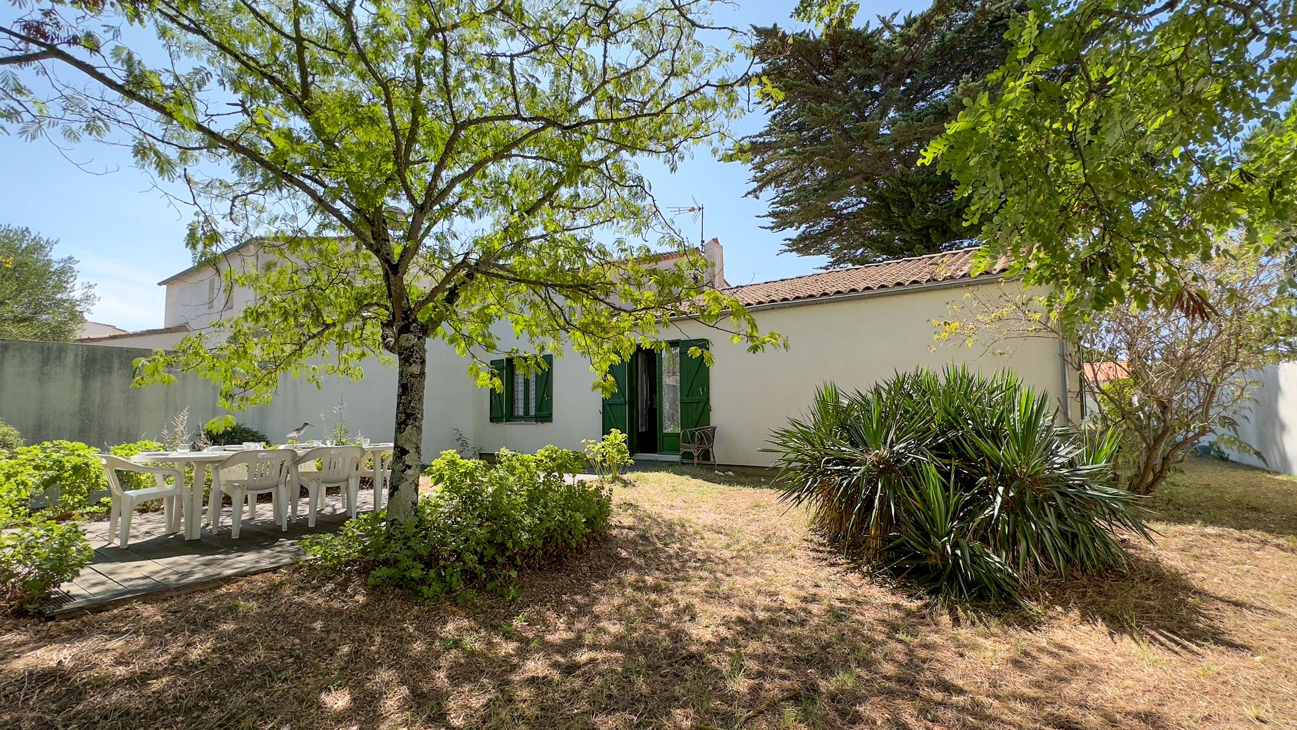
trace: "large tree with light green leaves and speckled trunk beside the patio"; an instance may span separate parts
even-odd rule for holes
[[[485,352],[534,369],[564,346],[608,387],[608,366],[660,344],[673,316],[752,348],[782,342],[706,286],[636,166],[674,165],[735,110],[746,69],[708,43],[733,43],[709,4],[161,0],[145,17],[166,68],[27,42],[139,110],[117,122],[192,194],[198,260],[252,233],[275,253],[227,274],[256,295],[241,314],[141,362],[143,378],[196,371],[239,408],[285,373],[359,375],[362,359],[394,355],[389,514],[402,518],[429,339],[494,387]],[[684,256],[663,264],[634,240]],[[497,338],[502,321],[521,344]]]

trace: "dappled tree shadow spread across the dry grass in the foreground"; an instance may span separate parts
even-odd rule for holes
[[[64,661],[0,665],[0,726],[1170,725],[1075,694],[1105,668],[1062,642],[996,660],[1021,681],[970,686],[975,647],[921,605],[741,559],[632,505],[514,603],[429,607],[301,569],[143,601],[51,625]]]

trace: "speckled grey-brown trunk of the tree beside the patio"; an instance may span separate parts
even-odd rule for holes
[[[392,449],[392,481],[388,483],[388,517],[414,517],[423,468],[423,392],[428,383],[427,333],[419,322],[396,330],[397,423]]]

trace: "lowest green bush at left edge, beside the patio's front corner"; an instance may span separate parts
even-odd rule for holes
[[[25,521],[0,533],[0,603],[35,612],[49,591],[71,581],[95,556],[80,526]]]

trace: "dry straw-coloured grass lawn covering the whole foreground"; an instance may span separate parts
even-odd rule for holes
[[[951,616],[759,479],[646,472],[515,603],[293,568],[0,627],[0,727],[1297,727],[1297,482],[1195,460],[1128,575]]]

